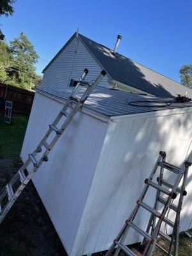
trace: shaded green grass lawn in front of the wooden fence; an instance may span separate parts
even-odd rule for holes
[[[4,115],[0,114],[0,159],[13,154],[19,154],[29,116],[13,114],[12,125],[4,122]]]

